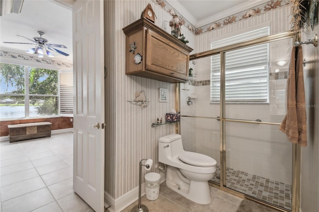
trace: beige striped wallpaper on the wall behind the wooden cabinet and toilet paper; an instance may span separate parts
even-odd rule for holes
[[[171,16],[151,0],[121,0],[105,2],[105,81],[106,106],[106,157],[105,191],[114,199],[121,197],[139,185],[139,161],[151,158],[156,170],[158,140],[175,132],[174,124],[152,128],[157,118],[175,108],[175,84],[125,75],[125,34],[123,27],[141,17],[143,9],[151,3],[157,19],[155,24],[166,31]],[[120,17],[120,18],[119,18]],[[165,21],[164,21],[165,20]],[[111,32],[111,33],[110,33]],[[183,32],[190,47],[194,35]],[[138,48],[137,48],[138,50]],[[136,51],[137,51],[136,50]],[[168,90],[168,102],[159,102],[159,89]],[[147,107],[133,105],[135,92],[145,91],[150,104]],[[143,170],[143,175],[145,174]],[[144,180],[143,180],[144,181]]]

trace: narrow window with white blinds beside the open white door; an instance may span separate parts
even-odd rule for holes
[[[73,73],[60,73],[60,114],[73,114]]]

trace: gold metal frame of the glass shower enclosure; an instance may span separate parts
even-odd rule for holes
[[[253,45],[264,44],[279,40],[284,40],[288,38],[296,38],[296,33],[292,31],[282,32],[274,35],[268,35],[260,38],[256,38],[250,41],[245,41],[237,44],[232,44],[229,46],[212,49],[200,53],[196,53],[189,56],[189,60],[195,60],[199,58],[209,57],[212,55],[220,54],[220,184],[215,182],[209,182],[210,186],[226,191],[230,194],[236,195],[243,199],[251,200],[257,202],[259,204],[268,206],[270,208],[274,208],[276,210],[280,210],[283,212],[289,212],[289,210],[276,207],[270,203],[259,200],[257,198],[245,195],[243,193],[234,191],[230,188],[226,187],[226,122],[241,122],[241,123],[258,123],[258,124],[276,124],[278,123],[269,123],[269,122],[256,122],[256,121],[248,121],[248,120],[237,120],[237,119],[228,119],[225,115],[225,53],[228,51],[245,48]],[[180,84],[176,84],[175,91],[175,109],[180,112]],[[196,117],[196,116],[193,116]],[[176,133],[180,134],[180,123],[176,122]],[[301,167],[301,149],[297,144],[293,144],[293,173],[292,173],[292,212],[299,212],[300,208],[300,167]]]

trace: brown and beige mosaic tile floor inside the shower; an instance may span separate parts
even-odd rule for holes
[[[220,169],[216,168],[212,181],[219,184]],[[228,188],[291,211],[292,185],[232,168],[226,168],[226,178]]]

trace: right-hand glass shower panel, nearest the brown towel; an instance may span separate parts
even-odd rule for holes
[[[286,114],[292,39],[225,52],[223,186],[292,209]]]

